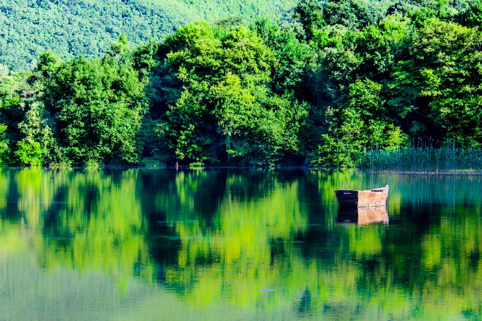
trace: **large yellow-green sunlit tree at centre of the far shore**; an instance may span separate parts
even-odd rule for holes
[[[194,24],[167,38],[161,51],[168,52],[158,71],[165,80],[159,100],[169,106],[165,135],[181,161],[244,157],[262,165],[299,151],[307,106],[273,92],[279,60],[256,33]]]

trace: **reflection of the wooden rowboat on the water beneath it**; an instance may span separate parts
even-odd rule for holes
[[[384,223],[388,225],[387,208],[385,206],[340,208],[336,223],[356,223],[358,225]]]

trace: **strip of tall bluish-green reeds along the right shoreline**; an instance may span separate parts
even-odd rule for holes
[[[482,148],[448,140],[440,146],[429,143],[393,150],[372,149],[360,155],[358,167],[373,171],[482,173]]]

